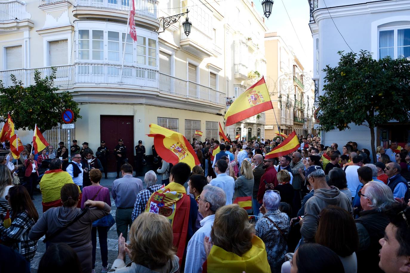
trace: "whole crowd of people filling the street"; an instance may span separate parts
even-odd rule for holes
[[[377,147],[372,164],[355,142],[339,151],[309,135],[265,158],[280,143],[194,139],[200,165],[161,160],[144,189],[121,162],[111,190],[100,185],[103,164],[83,147],[65,166],[48,158],[41,217],[0,158],[0,271],[29,272],[45,235],[39,273],[94,273],[98,234],[101,272],[410,272],[410,143]],[[28,154],[25,176],[35,179],[43,158]],[[114,223],[118,257],[108,261]]]

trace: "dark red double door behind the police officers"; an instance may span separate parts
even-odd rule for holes
[[[134,116],[100,116],[100,134],[110,153],[108,171],[117,170],[113,151],[119,139],[124,141],[128,162],[134,166]]]

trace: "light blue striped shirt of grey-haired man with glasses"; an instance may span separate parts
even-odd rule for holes
[[[188,242],[187,258],[185,262],[185,272],[201,273],[202,265],[206,260],[204,238],[211,237],[211,229],[214,224],[215,214],[209,215],[199,223],[201,228],[198,229],[194,236]]]

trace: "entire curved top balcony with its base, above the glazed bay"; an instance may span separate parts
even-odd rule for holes
[[[46,0],[53,1],[53,0]],[[156,0],[135,1],[135,23],[137,26],[157,31]],[[127,23],[130,0],[76,0],[73,16],[80,20],[109,20]]]

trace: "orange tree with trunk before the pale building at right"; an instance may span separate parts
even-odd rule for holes
[[[410,121],[410,61],[375,60],[368,51],[338,54],[338,65],[326,65],[323,70],[325,93],[318,99],[319,125],[326,132],[350,129],[350,123],[367,126],[376,162],[374,128],[390,120]]]

